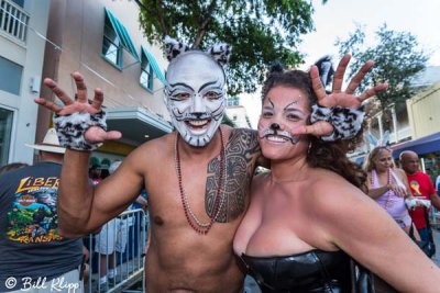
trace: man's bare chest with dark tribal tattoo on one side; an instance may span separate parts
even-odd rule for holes
[[[241,216],[248,205],[250,183],[260,148],[246,136],[231,136],[224,155],[206,160],[168,158],[156,177],[148,178],[150,206],[157,214],[184,209],[200,222],[227,223]],[[158,182],[163,182],[160,184]],[[153,212],[153,211],[152,211]],[[202,222],[202,223],[206,223]]]

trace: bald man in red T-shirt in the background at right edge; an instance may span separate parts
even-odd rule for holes
[[[399,156],[402,168],[407,176],[408,185],[416,199],[428,200],[437,209],[440,210],[440,198],[436,192],[436,188],[428,174],[419,170],[419,156],[413,150],[405,150]],[[429,210],[426,206],[419,206],[409,210],[414,224],[420,235],[421,240],[430,243],[427,214]]]

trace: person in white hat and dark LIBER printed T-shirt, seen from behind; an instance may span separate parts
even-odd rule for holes
[[[66,149],[54,128],[42,144],[26,146],[40,161],[0,177],[0,292],[48,293],[61,282],[82,292],[82,241],[58,234],[55,207]],[[45,288],[30,288],[38,278]]]

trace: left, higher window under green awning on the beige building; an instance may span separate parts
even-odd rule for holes
[[[122,67],[122,44],[108,15],[103,29],[102,55],[117,67]]]

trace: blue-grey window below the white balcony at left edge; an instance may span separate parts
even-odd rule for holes
[[[0,56],[0,90],[20,94],[23,67]]]

